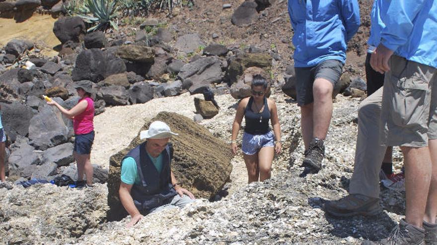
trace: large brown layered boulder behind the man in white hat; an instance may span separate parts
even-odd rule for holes
[[[232,155],[229,146],[215,137],[208,129],[195,123],[192,119],[170,112],[160,112],[146,123],[141,130],[146,130],[152,121],[163,121],[171,131],[178,133],[171,142],[174,147],[172,172],[184,188],[198,198],[214,197],[229,180],[232,171]],[[140,137],[111,156],[108,177],[108,204],[111,208],[109,220],[121,219],[123,210],[118,190],[120,185],[120,163],[122,158],[134,147],[141,144]]]

